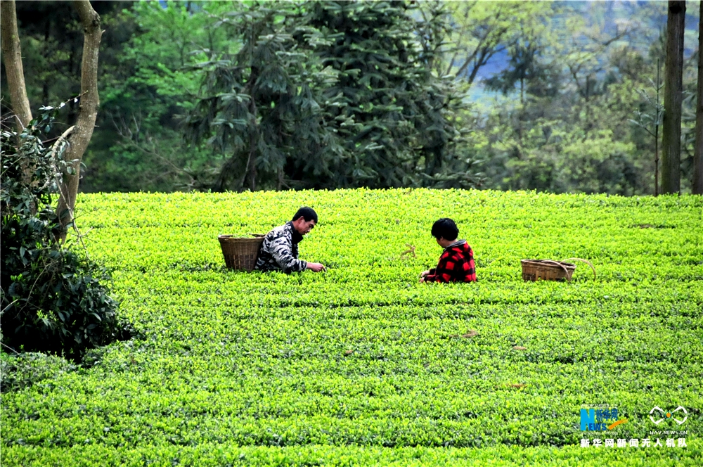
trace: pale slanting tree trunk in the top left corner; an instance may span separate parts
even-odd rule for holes
[[[25,72],[22,69],[22,49],[17,32],[15,0],[0,1],[0,35],[7,87],[10,91],[12,110],[17,117],[18,133],[21,133],[32,120],[32,110],[30,110],[30,100],[27,98]]]

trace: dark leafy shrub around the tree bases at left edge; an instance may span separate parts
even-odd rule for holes
[[[117,322],[117,302],[101,281],[103,267],[63,243],[52,201],[67,168],[60,158],[65,143],[44,146],[53,108],[18,135],[1,132],[2,340],[15,349],[64,352],[83,350],[126,337]]]

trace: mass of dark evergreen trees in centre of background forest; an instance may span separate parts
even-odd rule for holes
[[[475,186],[459,155],[465,94],[432,70],[446,11],[418,22],[403,2],[231,8],[209,27],[242,44],[198,65],[186,120],[189,138],[231,154],[213,191]]]

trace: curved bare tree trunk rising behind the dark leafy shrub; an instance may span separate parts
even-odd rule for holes
[[[73,6],[83,26],[83,60],[81,63],[81,95],[79,96],[78,117],[63,158],[69,162],[70,173],[63,174],[58,199],[58,213],[61,224],[73,222],[76,205],[81,160],[88,147],[98,113],[98,51],[103,31],[100,29],[100,16],[93,10],[88,0],[75,0]]]

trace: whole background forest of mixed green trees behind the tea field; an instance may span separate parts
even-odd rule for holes
[[[666,2],[93,8],[105,30],[101,105],[81,191],[654,193]],[[71,4],[22,1],[16,11],[32,110],[78,96],[83,32]],[[698,11],[690,2],[683,193],[693,172]],[[2,74],[7,122],[4,65]],[[72,100],[56,136],[76,114]]]

